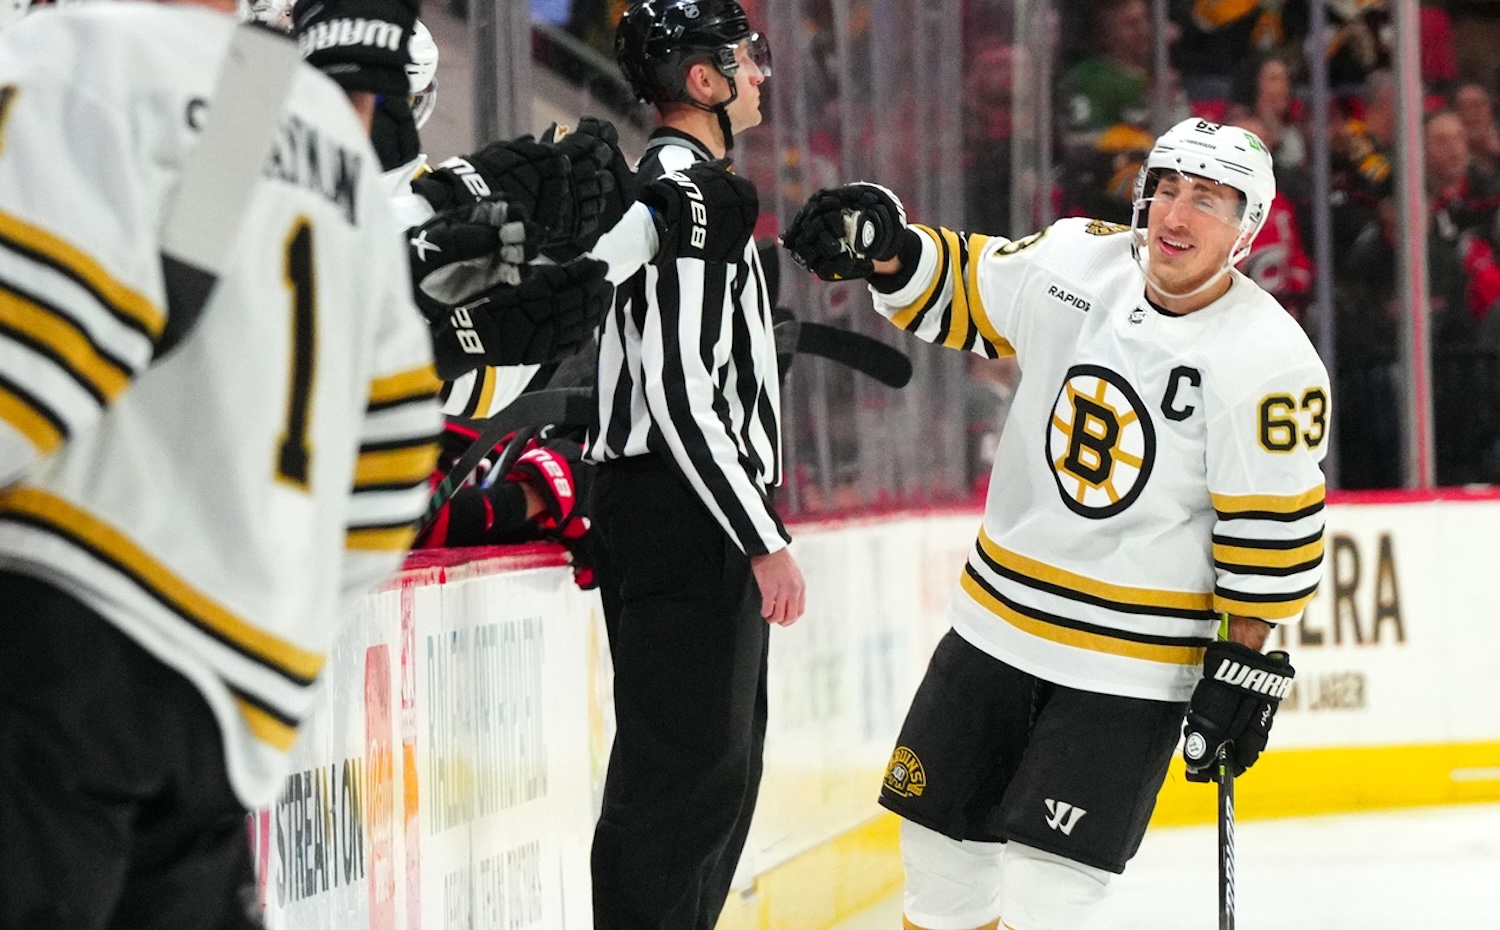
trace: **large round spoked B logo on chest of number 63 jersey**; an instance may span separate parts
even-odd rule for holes
[[[1077,364],[1058,392],[1047,423],[1047,460],[1070,510],[1089,519],[1136,502],[1156,458],[1156,430],[1125,378]]]

